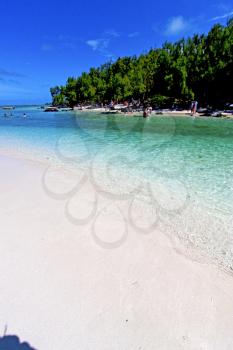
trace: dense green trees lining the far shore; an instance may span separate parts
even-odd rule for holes
[[[159,107],[233,103],[233,18],[207,35],[166,42],[139,57],[123,57],[91,68],[65,86],[51,88],[54,105],[123,102],[132,99]]]

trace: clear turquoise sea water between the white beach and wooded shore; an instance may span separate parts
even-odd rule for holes
[[[218,250],[215,238],[218,233],[221,236],[219,230],[224,231],[219,261],[224,263],[227,256],[230,264],[233,120],[183,116],[145,120],[84,112],[44,113],[36,107],[18,107],[10,117],[4,113],[0,111],[0,150],[33,153],[73,169],[81,167],[101,190],[123,199],[140,186],[149,186],[169,230],[180,236],[186,232],[181,238],[193,243],[198,237],[194,243],[204,250],[206,241],[213,239]]]

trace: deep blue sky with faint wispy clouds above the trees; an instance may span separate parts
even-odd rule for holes
[[[44,103],[49,88],[233,15],[233,1],[0,1],[0,104]]]

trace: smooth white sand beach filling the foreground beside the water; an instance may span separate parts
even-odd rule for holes
[[[232,276],[158,229],[125,232],[123,202],[100,199],[95,221],[90,185],[67,206],[46,193],[46,165],[0,163],[2,330],[43,350],[232,348]],[[50,180],[64,194],[77,179]]]

